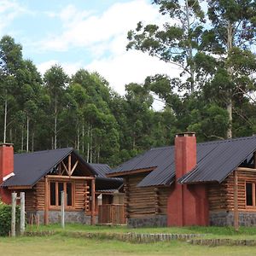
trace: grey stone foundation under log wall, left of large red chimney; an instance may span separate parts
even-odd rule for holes
[[[140,227],[166,227],[167,216],[157,215],[148,218],[128,218],[128,227],[140,228]]]

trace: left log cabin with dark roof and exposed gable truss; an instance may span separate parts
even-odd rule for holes
[[[113,197],[120,178],[106,177],[110,167],[89,164],[73,149],[60,148],[14,154],[12,144],[0,145],[0,198],[10,203],[11,192],[25,192],[27,219],[42,223],[61,218],[61,191],[65,191],[66,222],[96,224],[97,197]]]

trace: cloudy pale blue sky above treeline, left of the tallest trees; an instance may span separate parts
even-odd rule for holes
[[[59,64],[72,75],[98,72],[113,90],[143,83],[148,75],[179,73],[176,67],[137,50],[126,51],[127,32],[138,21],[162,24],[151,0],[0,0],[0,37],[9,35],[44,74]]]

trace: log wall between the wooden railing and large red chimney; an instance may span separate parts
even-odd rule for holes
[[[148,173],[134,174],[124,179],[125,209],[127,218],[147,218],[166,214],[170,187],[138,188]]]

